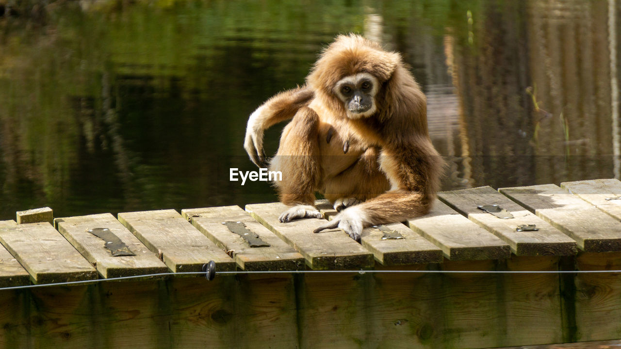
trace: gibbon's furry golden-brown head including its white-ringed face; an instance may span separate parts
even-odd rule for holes
[[[383,84],[401,64],[399,53],[384,51],[378,43],[356,34],[338,35],[306,79],[332,110],[361,119],[378,111]]]

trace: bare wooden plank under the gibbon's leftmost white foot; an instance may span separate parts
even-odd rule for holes
[[[314,229],[325,224],[323,219],[279,222],[278,217],[286,208],[280,202],[246,205],[246,211],[254,219],[301,253],[306,258],[307,265],[313,269],[358,269],[373,266],[373,254],[348,237],[343,230],[313,233]]]

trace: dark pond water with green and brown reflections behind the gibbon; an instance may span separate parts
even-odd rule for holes
[[[443,189],[619,178],[620,29],[614,0],[0,0],[0,219],[275,201],[229,181],[247,117],[346,32],[403,53]]]

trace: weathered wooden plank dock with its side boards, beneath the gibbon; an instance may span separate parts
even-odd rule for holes
[[[336,213],[317,204],[327,219]],[[0,221],[0,348],[492,348],[621,338],[621,273],[584,273],[621,270],[617,179],[443,192],[430,214],[366,228],[361,243],[338,229],[312,233],[323,219],[280,223],[284,208],[53,224],[49,209],[18,212]],[[183,274],[209,261],[239,273]],[[333,272],[343,270],[351,273]],[[543,273],[507,273],[516,271]],[[179,274],[147,276],[160,273]],[[125,276],[139,278],[93,281]],[[63,284],[72,281],[84,283]],[[11,288],[41,284],[51,285]]]

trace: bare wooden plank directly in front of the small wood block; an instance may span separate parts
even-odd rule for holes
[[[35,284],[91,280],[97,272],[48,222],[0,222],[0,242]]]

